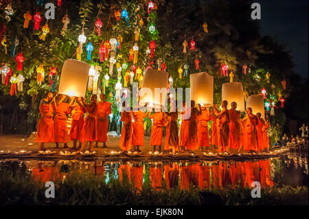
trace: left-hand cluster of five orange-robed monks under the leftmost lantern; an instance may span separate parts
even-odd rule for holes
[[[41,100],[39,110],[41,118],[38,121],[36,142],[39,143],[40,150],[45,150],[44,144],[51,142],[56,143],[56,148],[59,147],[59,143],[64,143],[64,148],[68,148],[68,139],[73,141],[73,149],[78,152],[84,151],[87,143],[91,152],[94,143],[98,147],[98,143],[102,142],[103,147],[106,147],[111,103],[105,101],[104,94],[100,95],[100,102],[97,102],[97,95],[91,95],[91,103],[88,104],[83,97],[70,98],[62,94],[54,96],[48,92]],[[69,114],[72,123],[68,134]]]

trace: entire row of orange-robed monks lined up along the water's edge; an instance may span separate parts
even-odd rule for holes
[[[219,154],[268,151],[269,140],[266,132],[269,124],[262,119],[261,113],[253,115],[252,109],[247,108],[245,117],[240,119],[240,111],[236,110],[237,103],[231,102],[229,110],[227,106],[228,102],[224,100],[221,104],[222,111],[218,110],[216,104],[210,111],[209,107],[202,107],[201,104],[196,107],[192,100],[190,106],[183,103],[181,111],[178,111],[176,104],[170,104],[170,112],[166,108],[163,112],[161,108],[150,113],[149,110],[145,112],[140,108],[133,110],[124,102],[120,118],[123,124],[119,146],[123,154],[141,153],[140,147],[144,146],[144,122],[148,117],[152,119],[150,146],[153,150],[150,154],[162,153],[164,126],[164,150],[174,155],[178,151],[192,153],[199,148],[203,151],[211,147]],[[91,103],[88,104],[83,97],[69,98],[61,94],[54,97],[52,93],[47,93],[41,101],[40,113],[36,138],[40,150],[44,150],[44,143],[49,142],[56,143],[56,148],[59,143],[64,143],[64,147],[67,148],[68,138],[73,141],[73,149],[78,149],[78,152],[84,151],[88,143],[90,152],[93,151],[94,143],[98,147],[98,143],[102,142],[103,147],[106,147],[111,103],[106,102],[104,94],[100,95],[100,102],[97,102],[97,95],[91,95]],[[67,115],[70,113],[72,124],[68,137]],[[179,115],[180,128],[177,124]]]

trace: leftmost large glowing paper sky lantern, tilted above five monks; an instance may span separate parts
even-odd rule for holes
[[[86,62],[69,59],[63,64],[58,93],[84,97],[90,66]]]

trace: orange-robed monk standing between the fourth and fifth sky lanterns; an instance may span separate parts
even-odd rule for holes
[[[242,119],[243,149],[246,151],[258,151],[258,134],[256,126],[258,118],[252,114],[252,108],[247,108],[247,115]]]

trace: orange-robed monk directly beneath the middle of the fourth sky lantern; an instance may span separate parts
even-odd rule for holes
[[[240,111],[236,111],[237,103],[231,102],[231,109],[229,110],[229,148],[240,151]]]

